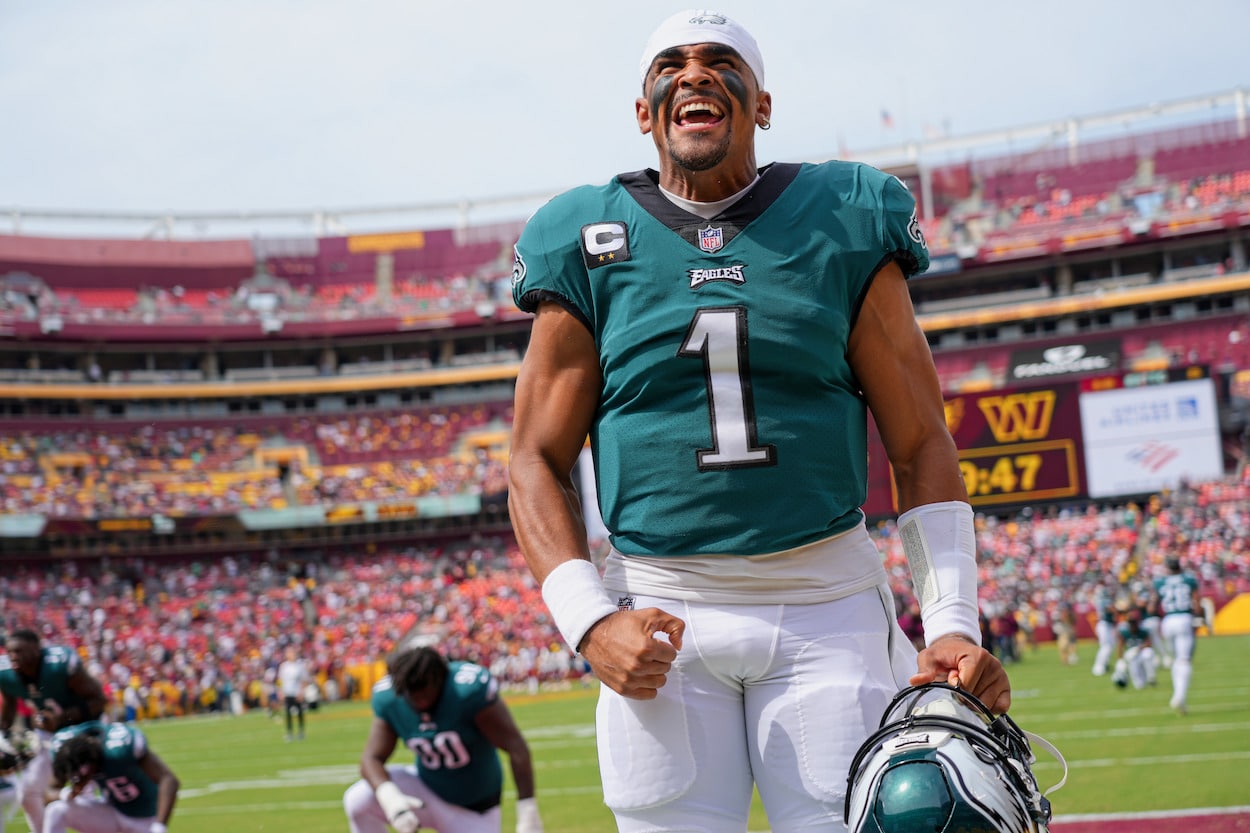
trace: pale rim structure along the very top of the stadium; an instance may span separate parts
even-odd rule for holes
[[[1166,130],[1184,125],[1221,124],[1225,138],[1250,135],[1250,88],[1165,103],[1071,116],[1029,125],[888,145],[838,156],[864,161],[919,180],[920,204],[934,205],[931,173],[944,165],[998,161],[1029,166],[1030,159],[1066,158],[1068,164],[1086,161],[1100,144],[1110,153],[1131,151],[1134,143],[1159,141]],[[1176,134],[1178,136],[1180,134]],[[1175,141],[1192,141],[1189,139]],[[1124,143],[1129,143],[1125,145]],[[1054,163],[1051,163],[1054,164]],[[74,210],[32,206],[0,206],[0,233],[50,234],[52,236],[129,236],[131,239],[291,239],[322,238],[420,228],[468,229],[478,224],[516,221],[529,216],[544,201],[564,190],[500,195],[442,203],[414,203],[371,206],[339,206],[261,211],[131,211]],[[109,234],[102,234],[109,229]]]

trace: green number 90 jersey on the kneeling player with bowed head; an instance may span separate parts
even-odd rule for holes
[[[390,677],[372,689],[374,714],[416,755],[421,780],[442,800],[471,808],[499,803],[504,788],[499,753],[474,722],[498,699],[490,672],[465,662],[449,663],[448,682],[430,713],[418,713],[396,694]]]

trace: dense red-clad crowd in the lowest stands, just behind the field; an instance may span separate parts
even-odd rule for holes
[[[1026,509],[978,517],[989,644],[1006,660],[1075,618],[1089,635],[1096,597],[1141,597],[1169,557],[1201,593],[1250,593],[1250,475],[1181,485],[1141,504]],[[892,522],[878,524],[904,628],[919,613]],[[1084,628],[1080,624],[1084,623]],[[231,557],[11,564],[0,574],[0,624],[35,627],[84,657],[119,713],[276,710],[289,645],[314,667],[318,698],[359,697],[414,628],[448,655],[491,668],[508,685],[576,684],[585,667],[562,644],[511,538],[442,545]]]

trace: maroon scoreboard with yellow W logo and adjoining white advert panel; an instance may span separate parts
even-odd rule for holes
[[[1215,386],[1202,366],[960,393],[944,404],[968,497],[979,509],[1142,495],[1224,472]],[[898,514],[871,422],[864,512]]]

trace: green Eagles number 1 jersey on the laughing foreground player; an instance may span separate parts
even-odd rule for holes
[[[848,339],[874,275],[928,269],[915,200],[869,165],[774,164],[704,220],[654,170],[556,196],[516,244],[512,296],[599,348],[590,443],[612,545],[755,555],[856,525],[868,409]]]

